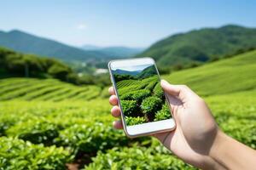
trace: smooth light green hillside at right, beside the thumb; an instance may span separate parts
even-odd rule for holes
[[[162,78],[186,84],[204,96],[252,90],[256,88],[256,50]]]

